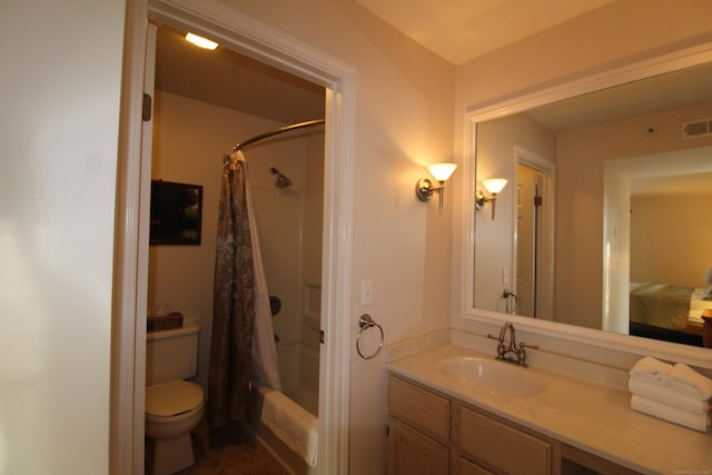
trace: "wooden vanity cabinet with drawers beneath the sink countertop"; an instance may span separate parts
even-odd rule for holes
[[[389,475],[635,473],[402,376],[389,376]]]

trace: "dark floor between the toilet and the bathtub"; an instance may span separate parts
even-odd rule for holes
[[[241,424],[209,429],[201,423],[192,433],[192,449],[196,464],[178,472],[179,475],[285,474],[273,457],[250,439]],[[146,473],[150,475],[149,471]]]

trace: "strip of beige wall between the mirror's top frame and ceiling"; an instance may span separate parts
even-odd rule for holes
[[[709,41],[711,17],[706,0],[609,3],[458,67],[456,107],[464,111]]]

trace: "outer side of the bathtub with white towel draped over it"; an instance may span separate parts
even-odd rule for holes
[[[254,384],[251,426],[255,441],[289,474],[316,475],[318,418],[284,393]]]

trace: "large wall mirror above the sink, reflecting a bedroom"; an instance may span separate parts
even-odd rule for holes
[[[487,200],[466,214],[466,313],[702,345],[712,46],[469,118],[465,192]],[[496,196],[491,178],[507,180]]]

